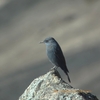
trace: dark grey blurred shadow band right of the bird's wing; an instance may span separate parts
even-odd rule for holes
[[[70,68],[81,69],[84,66],[100,61],[100,46],[96,45],[66,58]]]

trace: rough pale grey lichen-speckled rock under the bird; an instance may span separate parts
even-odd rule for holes
[[[19,100],[98,100],[90,91],[75,89],[55,71],[33,80]]]

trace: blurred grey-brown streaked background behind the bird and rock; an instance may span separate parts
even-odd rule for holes
[[[100,98],[99,0],[0,0],[0,100],[17,100],[53,67],[39,44],[49,36],[61,45],[71,85]]]

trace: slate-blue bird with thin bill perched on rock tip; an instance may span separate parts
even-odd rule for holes
[[[46,53],[49,61],[54,65],[53,69],[60,67],[67,75],[68,81],[71,83],[70,77],[68,75],[69,70],[66,65],[65,57],[58,42],[53,37],[47,37],[40,43],[45,43]]]

